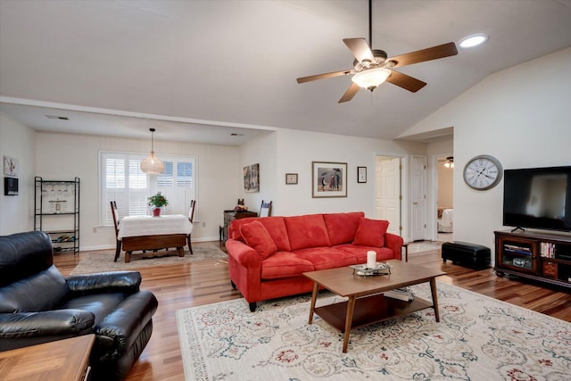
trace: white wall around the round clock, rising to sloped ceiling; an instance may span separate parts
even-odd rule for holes
[[[571,48],[494,73],[410,128],[454,126],[454,239],[485,244],[502,229],[503,181],[475,191],[468,160],[490,154],[504,169],[571,165]]]

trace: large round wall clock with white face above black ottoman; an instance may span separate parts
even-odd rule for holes
[[[476,190],[491,189],[500,183],[502,172],[498,159],[483,154],[468,160],[464,167],[464,181]]]

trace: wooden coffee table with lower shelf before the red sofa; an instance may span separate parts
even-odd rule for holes
[[[350,267],[303,273],[305,277],[309,277],[314,282],[309,324],[313,323],[313,313],[315,312],[321,319],[343,332],[343,352],[347,352],[349,333],[352,327],[367,326],[431,307],[434,308],[436,321],[440,321],[435,277],[446,273],[399,260],[386,261],[385,263],[392,268],[390,275],[361,277],[353,274],[353,269]],[[424,282],[430,282],[432,302],[417,296],[411,302],[403,302],[385,297],[382,294],[394,288],[418,285]],[[318,297],[319,286],[325,287],[339,296],[348,297],[349,300],[316,308],[315,302]]]

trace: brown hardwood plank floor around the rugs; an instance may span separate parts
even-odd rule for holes
[[[202,243],[193,245],[200,244]],[[81,255],[57,254],[54,256],[54,263],[66,276],[78,265]],[[438,277],[440,282],[571,322],[571,293],[534,285],[529,281],[519,282],[514,277],[496,277],[492,269],[476,271],[453,265],[450,261],[444,264],[440,250],[410,253],[409,261],[446,271],[446,276]],[[163,266],[139,271],[143,276],[141,287],[156,295],[159,309],[153,316],[151,341],[131,369],[128,381],[183,380],[175,311],[236,299],[242,295],[230,286],[228,263],[223,260],[199,261],[182,266]],[[245,302],[244,309],[247,309]]]

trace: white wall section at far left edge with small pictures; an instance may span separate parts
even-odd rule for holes
[[[32,128],[0,112],[0,236],[34,229],[34,142]],[[4,195],[4,155],[18,159],[19,195]]]

